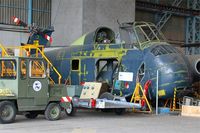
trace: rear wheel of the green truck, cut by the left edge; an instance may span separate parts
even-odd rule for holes
[[[15,121],[17,109],[10,101],[0,102],[0,123],[12,123]]]

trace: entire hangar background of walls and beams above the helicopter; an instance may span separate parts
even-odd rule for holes
[[[199,0],[1,0],[0,24],[5,35],[1,36],[1,42],[18,45],[27,39],[23,34],[26,31],[12,22],[11,17],[18,16],[29,25],[54,26],[53,45],[70,45],[99,25],[117,31],[117,21],[134,20],[153,22],[173,44],[196,44],[200,41],[199,8]],[[197,49],[187,52],[199,53]]]

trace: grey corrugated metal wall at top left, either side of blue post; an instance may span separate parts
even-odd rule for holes
[[[28,23],[29,0],[0,0],[0,24],[13,25],[12,16]],[[32,0],[32,23],[51,25],[51,0]]]

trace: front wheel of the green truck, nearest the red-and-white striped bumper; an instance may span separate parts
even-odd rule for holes
[[[45,118],[50,121],[60,119],[60,114],[61,108],[57,103],[50,103],[44,112]]]

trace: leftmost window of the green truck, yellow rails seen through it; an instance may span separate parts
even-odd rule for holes
[[[16,79],[16,71],[15,60],[0,60],[0,79]]]

